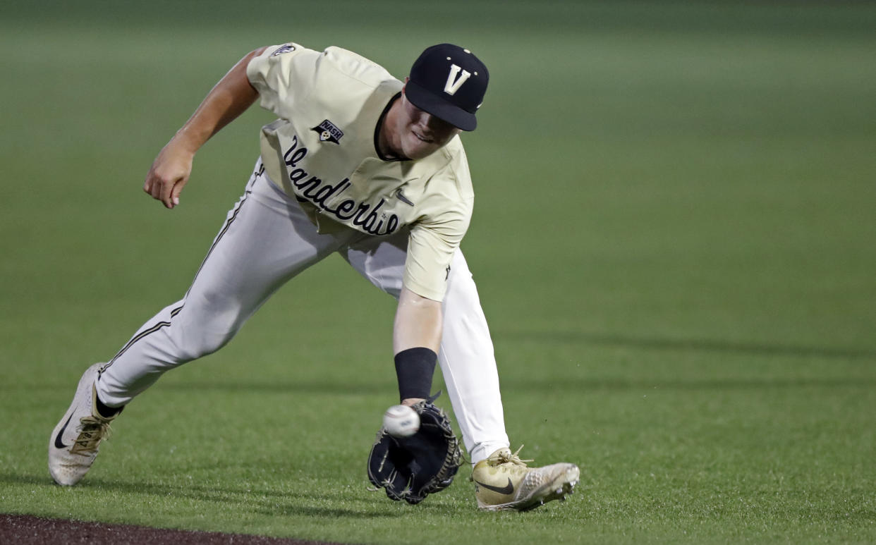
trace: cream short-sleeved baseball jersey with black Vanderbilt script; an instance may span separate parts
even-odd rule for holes
[[[261,106],[279,117],[262,128],[268,176],[320,232],[385,236],[409,229],[405,287],[442,301],[474,202],[459,137],[424,159],[383,157],[378,126],[402,82],[340,47],[268,47],[246,73]]]

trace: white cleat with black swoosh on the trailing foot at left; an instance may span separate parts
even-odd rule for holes
[[[118,415],[105,418],[97,412],[95,380],[102,365],[82,374],[73,404],[49,437],[49,473],[59,485],[75,485],[85,477],[102,440],[109,437],[109,422]]]

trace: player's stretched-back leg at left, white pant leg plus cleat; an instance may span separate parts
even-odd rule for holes
[[[74,485],[94,463],[109,431],[101,405],[104,414],[124,407],[164,372],[218,350],[286,280],[344,243],[319,235],[259,166],[186,296],[145,322],[109,364],[82,376],[49,438],[49,471],[59,484]]]

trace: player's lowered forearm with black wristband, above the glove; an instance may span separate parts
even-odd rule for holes
[[[392,351],[404,405],[428,397],[441,346],[442,304],[401,288],[392,327]]]

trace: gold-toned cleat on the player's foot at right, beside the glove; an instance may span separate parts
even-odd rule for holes
[[[521,446],[520,449],[523,447]],[[517,449],[517,452],[520,451]],[[477,506],[484,511],[527,511],[554,499],[571,494],[581,471],[575,464],[552,464],[527,467],[517,452],[498,449],[475,464],[471,480],[475,482]]]

